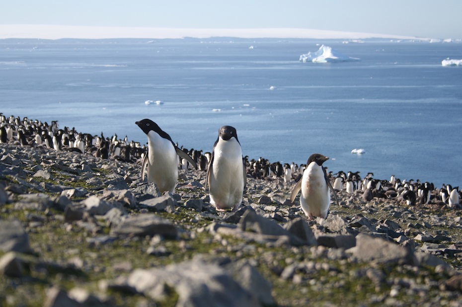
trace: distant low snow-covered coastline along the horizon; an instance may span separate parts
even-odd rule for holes
[[[300,28],[260,28],[260,29],[199,29],[199,28],[141,28],[141,27],[89,27],[37,24],[1,24],[0,39],[105,39],[105,38],[307,38],[307,39],[417,39],[413,36],[386,35],[360,32],[342,32]]]

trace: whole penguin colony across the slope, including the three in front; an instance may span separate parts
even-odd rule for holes
[[[149,126],[154,129],[142,127],[143,123],[149,123]],[[323,162],[328,158],[322,154],[312,154],[307,164],[301,165],[294,162],[270,163],[262,157],[249,160],[248,156],[242,156],[237,133],[231,126],[221,127],[213,151],[203,153],[194,149],[178,148],[168,134],[151,120],[145,119],[136,124],[147,134],[148,146],[128,141],[127,136],[120,139],[117,135],[104,137],[103,133],[99,136],[90,135],[77,132],[75,128],[60,129],[58,121],[48,124],[27,117],[22,119],[14,116],[6,117],[0,113],[0,143],[47,147],[57,151],[73,151],[103,159],[111,158],[144,164],[143,175],[147,169],[148,180],[153,181],[159,190],[168,192],[174,191],[178,169],[188,169],[192,166],[207,171],[206,188],[208,185],[211,203],[218,210],[238,208],[242,201],[246,177],[263,180],[281,178],[285,184],[294,185],[291,202],[294,202],[297,194],[301,192],[300,204],[309,219],[326,217],[330,204],[329,190],[335,198],[335,191],[346,191],[361,193],[365,201],[371,201],[376,197],[397,199],[412,206],[437,204],[449,208],[462,208],[460,202],[462,192],[458,186],[443,184],[442,187],[435,188],[430,182],[400,180],[394,175],[389,180],[379,180],[374,178],[373,173],[368,173],[362,178],[359,172],[327,172]],[[159,140],[162,141],[163,147],[154,145]],[[161,154],[168,157],[170,161],[174,160],[174,163],[164,160],[160,164],[168,165],[169,168],[156,170],[156,159]],[[161,179],[155,178],[155,172],[163,174]],[[167,177],[168,180],[165,179]],[[163,182],[167,181],[168,183],[162,186]],[[224,182],[228,182],[228,186]]]

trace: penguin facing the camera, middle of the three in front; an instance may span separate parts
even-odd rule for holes
[[[234,127],[223,126],[218,130],[207,170],[206,189],[207,184],[210,203],[217,210],[237,210],[246,185],[246,171]]]

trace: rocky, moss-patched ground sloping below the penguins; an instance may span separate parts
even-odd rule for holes
[[[462,306],[459,209],[339,192],[308,221],[295,184],[247,179],[217,212],[141,167],[0,144],[0,306]]]

